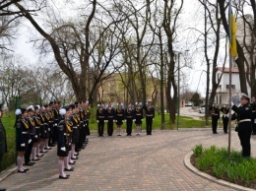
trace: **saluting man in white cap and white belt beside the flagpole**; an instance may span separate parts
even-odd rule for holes
[[[249,158],[251,156],[250,139],[252,132],[250,97],[241,94],[240,103],[241,105],[239,107],[235,104],[232,105],[232,110],[235,113],[232,114],[231,119],[237,120],[237,132],[242,146],[242,156]]]

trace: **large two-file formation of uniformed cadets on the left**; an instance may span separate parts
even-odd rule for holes
[[[74,170],[70,164],[75,164],[79,151],[85,149],[88,143],[87,135],[90,135],[89,101],[78,101],[62,108],[67,111],[67,114],[59,112],[60,106],[59,101],[51,101],[46,105],[30,105],[16,110],[18,172],[26,173],[29,169],[24,165],[33,165],[34,161],[39,160],[47,153],[46,150],[50,150],[56,143],[58,144],[59,178],[68,178],[64,170]],[[61,147],[62,144],[65,152]]]

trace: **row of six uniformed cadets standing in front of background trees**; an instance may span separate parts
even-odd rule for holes
[[[127,136],[132,135],[133,122],[136,124],[136,135],[139,136],[141,133],[142,121],[146,117],[146,132],[147,135],[152,135],[152,125],[155,118],[155,108],[152,105],[152,100],[148,99],[147,103],[143,106],[141,102],[135,103],[135,108],[129,103],[124,108],[121,102],[117,103],[117,108],[114,109],[112,102],[108,102],[105,106],[103,103],[97,105],[96,110],[96,122],[98,137],[103,137],[104,124],[107,123],[107,135],[113,135],[113,123],[117,126],[117,136],[121,136],[123,122],[126,122],[126,133]]]

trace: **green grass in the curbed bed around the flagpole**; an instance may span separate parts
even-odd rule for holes
[[[246,187],[256,186],[256,159],[242,158],[241,153],[231,151],[228,155],[226,148],[205,149],[197,145],[192,149],[193,164],[200,170],[217,178]]]

